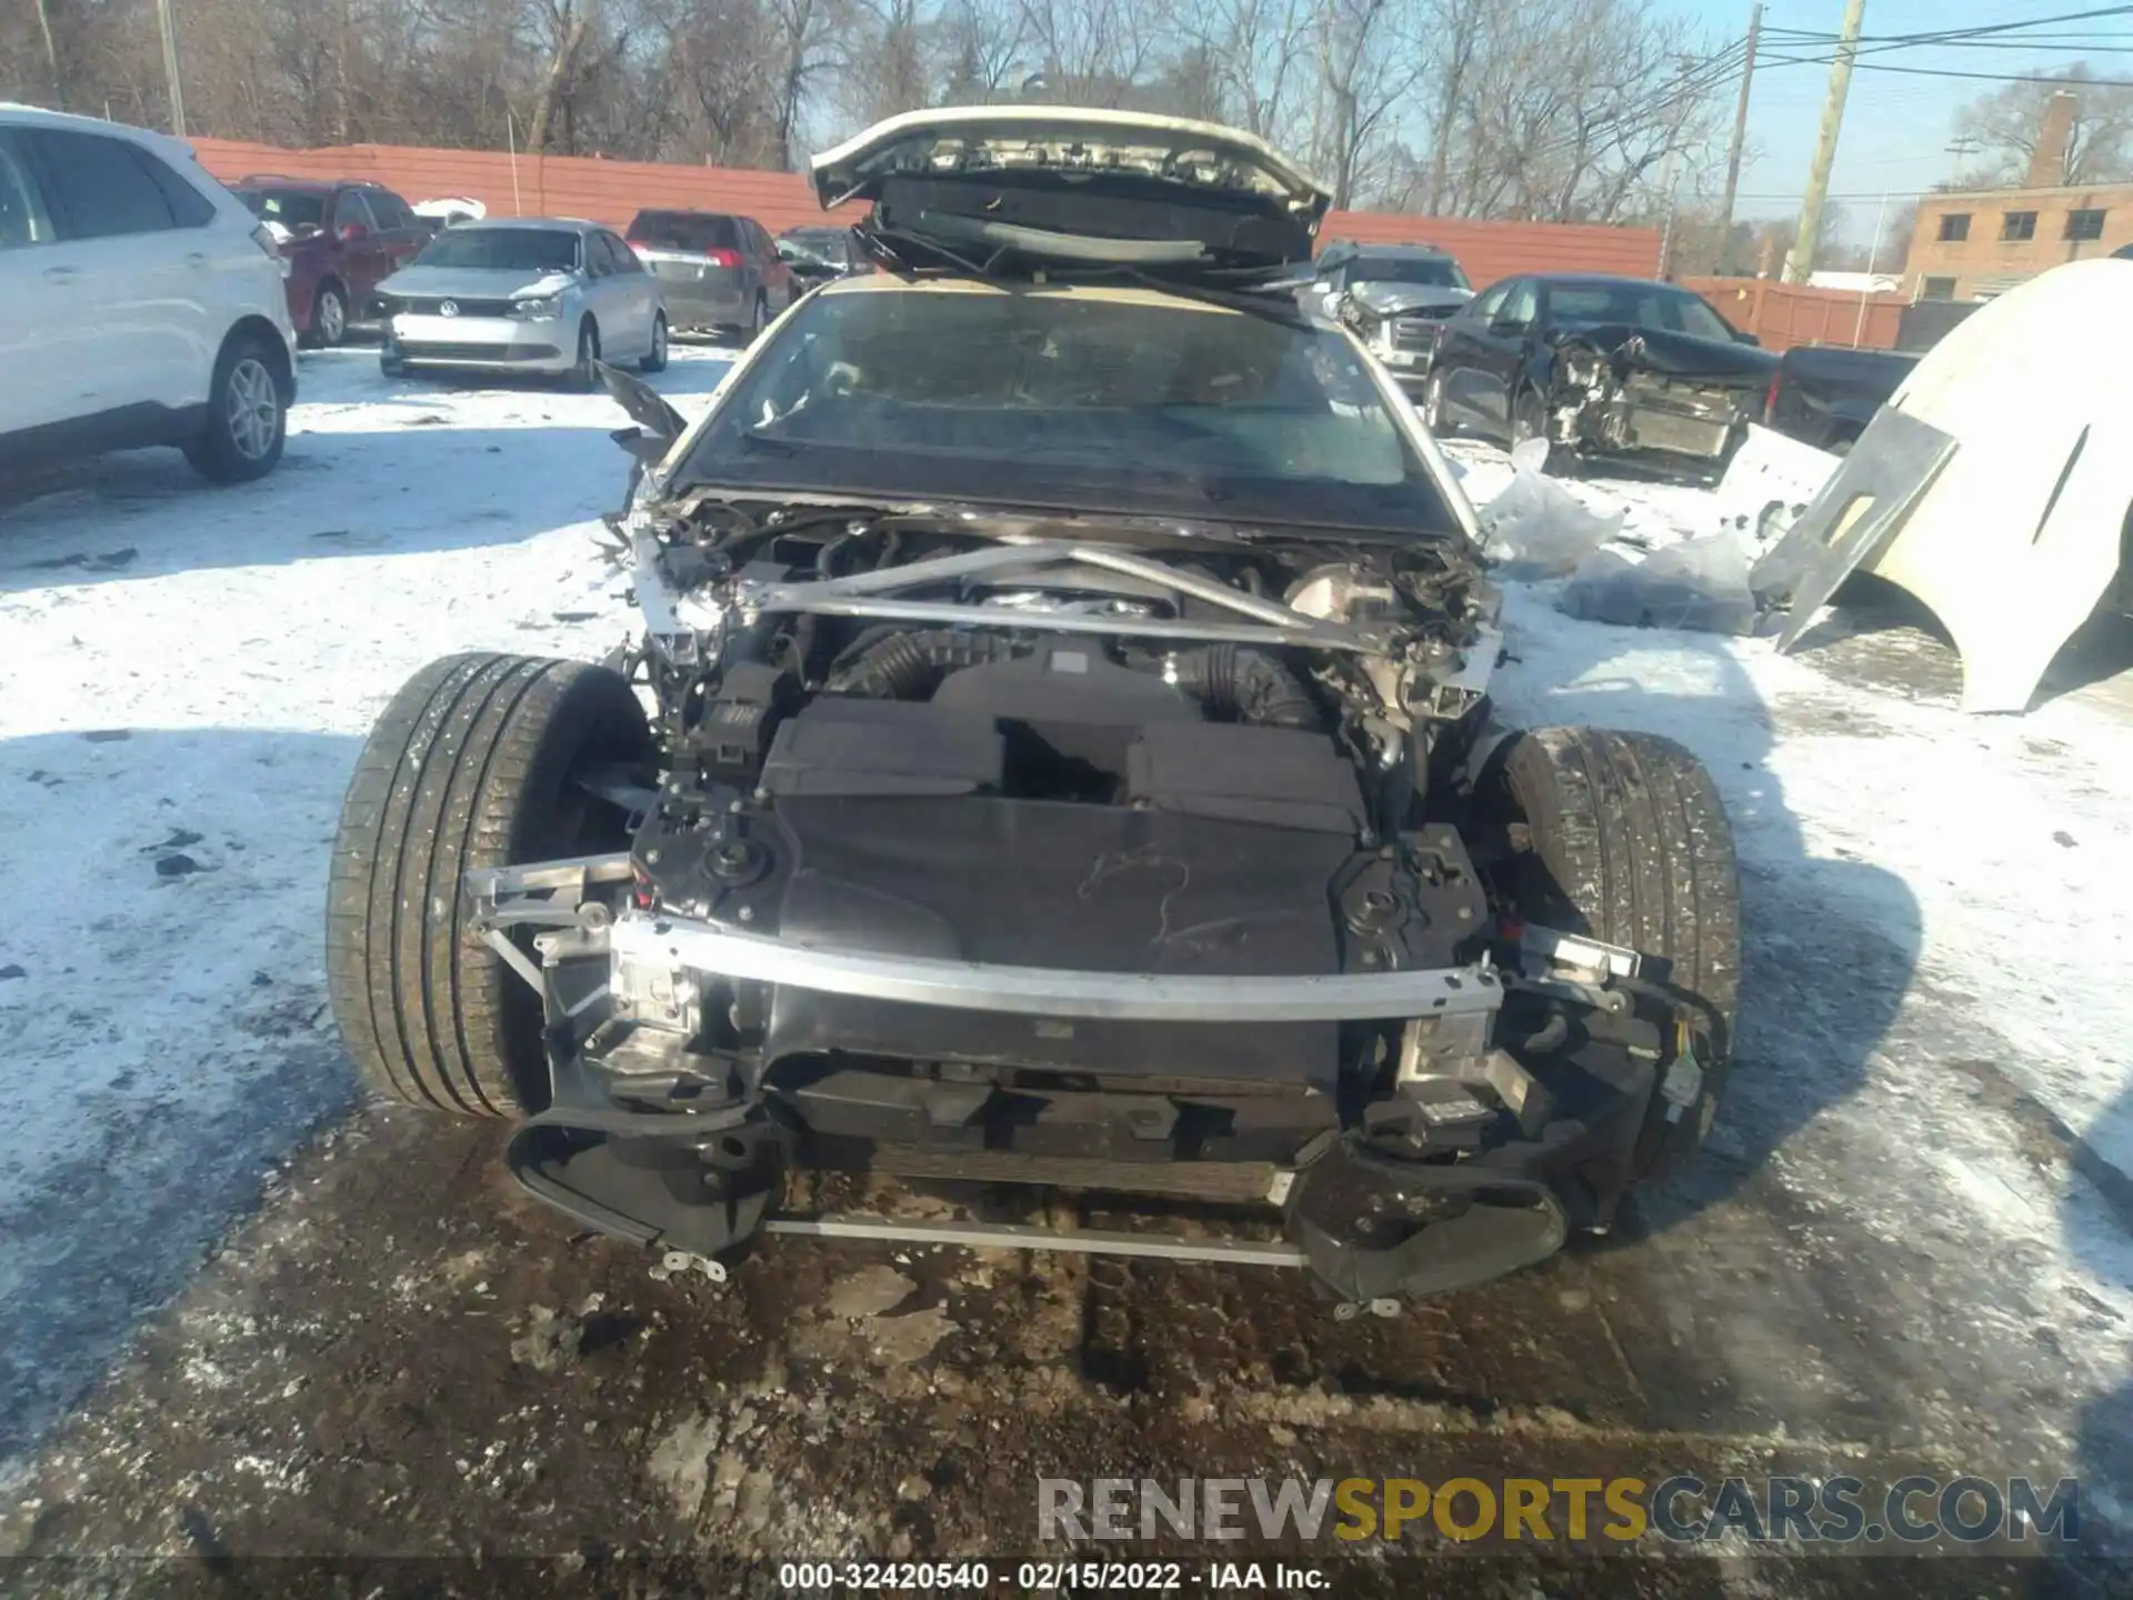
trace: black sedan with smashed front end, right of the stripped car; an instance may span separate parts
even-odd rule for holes
[[[1510,277],[1446,318],[1423,375],[1431,433],[1549,442],[1551,469],[1625,461],[1717,476],[1777,356],[1711,305],[1636,277]]]

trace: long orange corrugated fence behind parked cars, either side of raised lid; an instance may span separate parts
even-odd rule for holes
[[[501,149],[416,149],[339,145],[279,149],[235,139],[194,139],[201,164],[228,181],[247,173],[284,177],[367,177],[405,201],[469,196],[488,215],[565,215],[625,226],[642,207],[740,211],[770,233],[821,222],[815,190],[798,173],[678,162],[614,162],[597,156],[512,156]],[[857,220],[862,207],[840,215]],[[1333,211],[1320,239],[1433,243],[1453,252],[1476,288],[1512,273],[1583,271],[1649,277],[1659,265],[1651,228],[1595,228],[1559,222],[1468,222],[1382,211]]]

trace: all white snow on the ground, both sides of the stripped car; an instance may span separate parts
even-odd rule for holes
[[[676,352],[657,382],[687,410],[723,369]],[[262,484],[141,454],[0,489],[0,1459],[348,1103],[322,896],[384,702],[444,653],[597,655],[629,623],[589,538],[625,478],[610,401],[388,384],[367,352],[305,358],[303,388]],[[1478,501],[1508,478],[1455,454]],[[1574,493],[1645,542],[1711,506]],[[2033,1425],[2095,1459],[2084,1440],[2133,1431],[2133,947],[2110,894],[2133,881],[2133,715],[2084,691],[1964,719],[1930,644],[1854,672],[1551,602],[1508,587],[1510,719],[1679,738],[1734,817],[1747,1009],[1713,1182],[1768,1158],[1915,1250],[1982,1359],[2052,1367]],[[1939,1359],[1905,1346],[1924,1329],[1888,1338],[1892,1363]]]

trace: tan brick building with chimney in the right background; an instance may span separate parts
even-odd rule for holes
[[[2133,245],[2133,183],[2069,186],[2073,94],[2054,94],[2028,181],[2014,190],[1922,194],[1903,288],[1913,301],[1984,301],[2067,260]]]

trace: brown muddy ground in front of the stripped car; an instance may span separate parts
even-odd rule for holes
[[[26,1559],[9,1587],[744,1594],[774,1591],[774,1559],[796,1555],[983,1555],[1005,1572],[1039,1553],[1039,1476],[1883,1483],[1982,1466],[1945,1391],[1907,1393],[1879,1350],[1918,1291],[1773,1182],[1342,1323],[1299,1274],[1028,1252],[785,1237],[723,1286],[663,1276],[518,1197],[499,1152],[495,1129],[414,1114],[358,1116],[301,1152],[15,1485],[0,1549]],[[1743,1316],[1760,1348],[1728,1327]],[[1798,1327],[1817,1329],[1811,1350]],[[1994,1470],[2050,1466],[1996,1440]],[[2114,1587],[1975,1555],[1401,1549],[1293,1559],[1337,1594],[1517,1600]],[[469,1555],[486,1564],[420,1559]],[[1237,1551],[1188,1555],[1197,1572]]]

